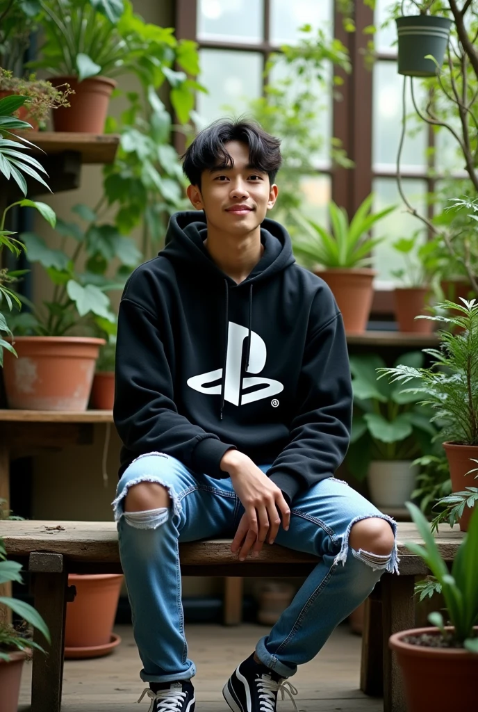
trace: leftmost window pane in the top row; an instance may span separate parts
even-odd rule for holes
[[[198,0],[198,39],[261,42],[264,0]]]

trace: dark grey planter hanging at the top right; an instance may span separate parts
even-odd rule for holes
[[[396,19],[398,31],[398,73],[410,77],[434,77],[442,66],[452,21],[447,17],[411,15]]]

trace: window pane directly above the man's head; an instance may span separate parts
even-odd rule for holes
[[[262,93],[262,55],[238,50],[203,49],[199,81],[208,94],[198,92],[197,110],[204,122],[225,115],[239,116],[248,100]]]

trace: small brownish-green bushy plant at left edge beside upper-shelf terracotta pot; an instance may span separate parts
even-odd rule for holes
[[[45,128],[50,109],[70,106],[68,96],[71,93],[68,85],[61,90],[50,82],[37,79],[35,74],[23,79],[0,67],[0,99],[11,95],[25,97],[25,103],[14,112],[14,116],[30,123],[33,131]]]

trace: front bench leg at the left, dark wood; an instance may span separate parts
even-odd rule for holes
[[[51,634],[51,646],[35,631],[33,639],[47,655],[33,650],[31,712],[60,712],[65,651],[68,571],[34,574],[35,607]]]

